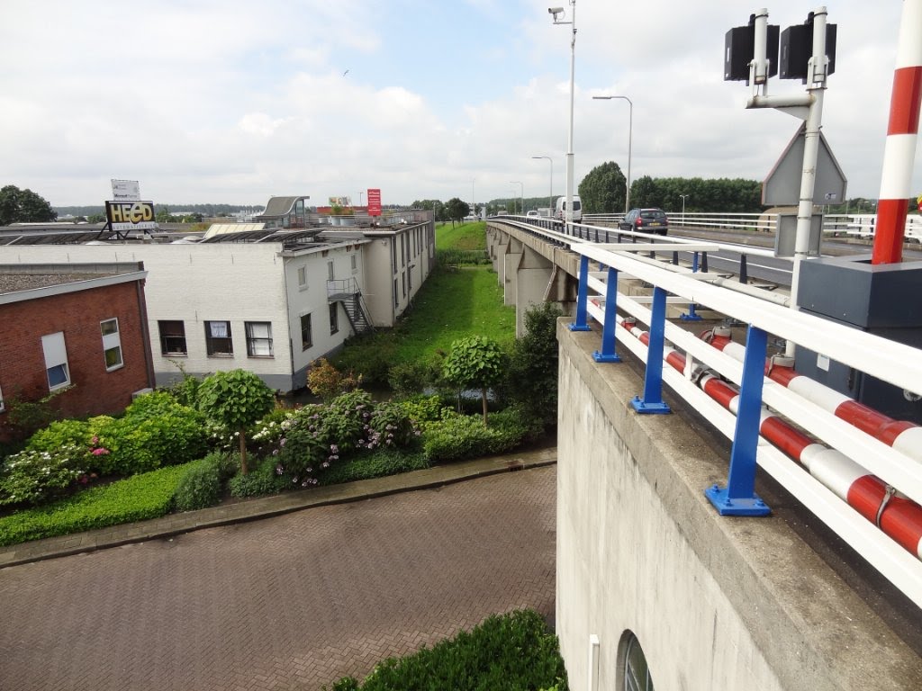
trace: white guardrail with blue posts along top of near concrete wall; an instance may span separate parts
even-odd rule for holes
[[[511,217],[508,220],[513,221]],[[733,441],[730,464],[734,470],[728,474],[727,488],[703,488],[721,514],[734,513],[722,509],[733,504],[744,509],[751,507],[750,515],[768,510],[760,510],[764,505],[756,497],[752,485],[758,463],[896,588],[922,606],[922,539],[919,538],[922,444],[918,443],[922,427],[907,424],[912,427],[909,436],[902,444],[892,441],[893,445],[853,427],[830,411],[828,405],[824,405],[827,402],[811,400],[793,384],[786,387],[766,377],[765,344],[767,336],[774,335],[887,381],[907,394],[917,395],[922,395],[922,350],[791,310],[756,295],[739,292],[739,289],[714,285],[713,280],[704,279],[704,275],[694,273],[689,266],[664,264],[649,256],[654,250],[660,255],[665,252],[667,256],[672,251],[716,252],[717,244],[699,241],[692,246],[678,240],[654,244],[649,236],[643,244],[588,242],[551,230],[538,230],[533,221],[530,218],[528,225],[521,222],[514,222],[514,225],[555,244],[569,246],[580,255],[579,298],[571,328],[586,331],[589,319],[601,325],[602,345],[596,353],[599,367],[618,366],[602,364],[619,361],[616,344],[628,348],[644,362],[644,393],[634,403],[638,413],[668,411],[660,397],[665,382],[716,430]],[[621,293],[617,287],[624,277],[636,278],[652,286],[653,298],[629,297]],[[728,355],[727,348],[718,349],[668,322],[665,318],[667,295],[669,302],[687,302],[715,310],[748,325],[745,357]],[[639,328],[632,327],[632,320],[646,324],[648,330],[641,333]],[[786,366],[792,368],[793,363]],[[738,392],[733,391],[739,395],[721,404],[703,390],[703,382],[710,380],[721,385],[730,382],[739,388]],[[827,392],[825,397],[833,399],[837,395]],[[666,410],[657,409],[659,406],[665,406]],[[649,409],[644,410],[644,407]],[[766,439],[762,422],[769,417],[788,421],[782,424],[791,424],[792,429],[798,430],[792,434],[802,433],[800,436],[806,439],[810,453],[804,452],[795,460],[782,451],[783,444],[776,446]],[[907,443],[907,439],[912,439],[911,443]],[[751,472],[746,470],[747,463],[751,464]],[[738,479],[734,480],[734,476]],[[853,479],[872,476],[876,476],[874,482],[881,485],[876,521],[853,509],[844,496]],[[750,486],[743,486],[741,492],[740,477],[744,484],[747,477],[751,478]],[[888,505],[888,502],[891,503]],[[894,506],[894,502],[899,502],[899,506]],[[886,519],[881,522],[881,515],[886,516],[884,509],[893,509],[892,515],[900,513],[909,517],[906,526],[895,529],[900,534],[894,536],[892,519],[889,526]],[[889,533],[885,533],[885,529]],[[912,536],[907,539],[906,533]],[[917,541],[915,546],[914,540]]]

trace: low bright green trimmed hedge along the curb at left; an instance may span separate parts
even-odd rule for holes
[[[0,545],[165,516],[172,509],[184,470],[181,465],[161,468],[4,516],[0,518]]]

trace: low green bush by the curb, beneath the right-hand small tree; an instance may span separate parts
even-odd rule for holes
[[[512,420],[503,422],[501,417],[499,424],[487,427],[480,416],[454,414],[426,428],[422,448],[430,463],[458,461],[509,451],[523,436],[523,427]]]

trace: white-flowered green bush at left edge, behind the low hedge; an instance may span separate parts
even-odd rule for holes
[[[43,504],[86,478],[87,447],[64,444],[53,451],[21,451],[0,468],[0,506]]]

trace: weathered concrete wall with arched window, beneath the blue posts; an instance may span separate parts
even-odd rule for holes
[[[638,416],[631,362],[561,319],[557,632],[570,687],[623,687],[632,632],[656,691],[918,689],[922,662],[784,518],[723,518],[727,454],[689,416]],[[671,402],[670,403],[674,403]],[[674,410],[678,410],[675,404]],[[762,488],[760,488],[762,493]]]

